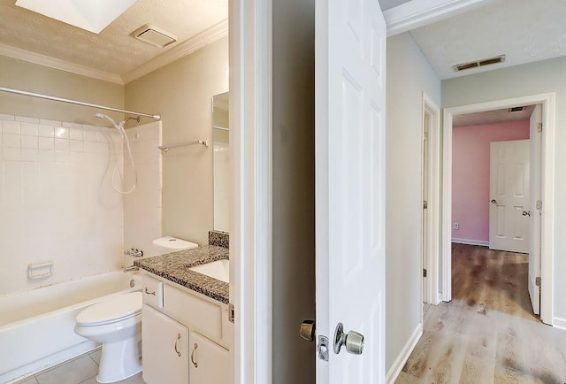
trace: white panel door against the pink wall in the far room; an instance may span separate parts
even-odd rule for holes
[[[489,248],[529,252],[529,140],[492,142]]]

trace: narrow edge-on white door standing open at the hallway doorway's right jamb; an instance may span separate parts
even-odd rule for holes
[[[540,214],[541,214],[541,149],[542,132],[539,132],[539,124],[542,127],[542,107],[535,105],[531,115],[531,227],[532,234],[529,246],[529,296],[531,296],[532,311],[540,314],[540,286],[537,278],[540,277]]]

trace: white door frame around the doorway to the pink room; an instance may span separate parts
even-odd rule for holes
[[[486,103],[445,108],[443,119],[442,162],[442,300],[452,300],[452,119],[463,113],[510,108],[516,105],[542,104],[541,219],[540,251],[540,319],[553,324],[553,270],[554,270],[554,207],[555,207],[555,93],[519,96]]]

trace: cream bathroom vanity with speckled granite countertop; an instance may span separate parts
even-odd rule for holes
[[[146,383],[233,382],[228,283],[190,269],[226,258],[226,249],[204,246],[136,260]]]

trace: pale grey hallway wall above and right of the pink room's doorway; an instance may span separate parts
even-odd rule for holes
[[[442,81],[442,107],[556,93],[554,317],[566,324],[566,57]]]

